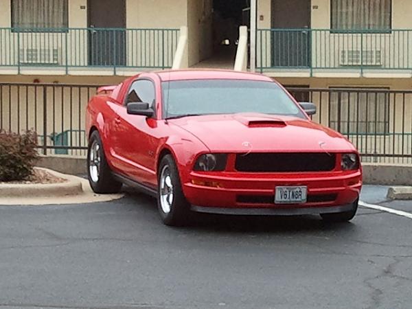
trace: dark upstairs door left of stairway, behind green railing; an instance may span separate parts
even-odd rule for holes
[[[89,65],[126,65],[126,0],[89,0]]]

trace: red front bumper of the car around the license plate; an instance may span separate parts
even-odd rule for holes
[[[275,187],[278,185],[306,185],[308,201],[293,205],[275,204]],[[242,209],[244,214],[253,213],[253,209],[260,209],[260,213],[261,209],[266,209],[267,214],[298,214],[293,209],[301,209],[299,214],[341,212],[345,211],[342,207],[349,207],[358,199],[361,187],[361,170],[301,174],[191,172],[183,182],[183,192],[187,201],[195,205],[192,207],[195,211],[226,214],[242,214]],[[326,210],[327,207],[335,207],[336,211]]]

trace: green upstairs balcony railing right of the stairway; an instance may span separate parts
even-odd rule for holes
[[[257,67],[412,73],[412,30],[265,29],[257,34]]]

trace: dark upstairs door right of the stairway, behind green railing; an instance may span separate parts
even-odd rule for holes
[[[272,66],[310,67],[310,0],[272,0]]]

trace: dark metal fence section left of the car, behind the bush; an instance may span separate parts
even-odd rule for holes
[[[98,86],[0,83],[0,128],[35,130],[44,155],[86,155],[87,102]]]

